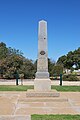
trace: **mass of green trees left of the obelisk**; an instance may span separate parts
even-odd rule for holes
[[[15,48],[7,47],[0,43],[0,76],[2,78],[14,78],[15,70],[24,77],[30,78],[35,74],[34,63],[23,56],[23,53]]]

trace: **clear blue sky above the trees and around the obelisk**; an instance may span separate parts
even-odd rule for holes
[[[0,42],[36,60],[38,22],[48,24],[48,57],[80,47],[80,0],[0,0]]]

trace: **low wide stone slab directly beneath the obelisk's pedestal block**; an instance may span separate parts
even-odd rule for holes
[[[26,93],[27,97],[59,97],[60,93],[56,90],[51,91],[35,91],[35,90],[28,90]]]

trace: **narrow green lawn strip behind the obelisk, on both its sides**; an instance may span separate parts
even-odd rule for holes
[[[33,88],[33,85],[0,85],[0,91],[26,91]],[[51,88],[63,92],[80,92],[80,86],[51,86]]]

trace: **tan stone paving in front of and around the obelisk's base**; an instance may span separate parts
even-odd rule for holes
[[[0,120],[31,120],[31,114],[80,114],[80,92],[27,98],[26,92],[0,92]]]

